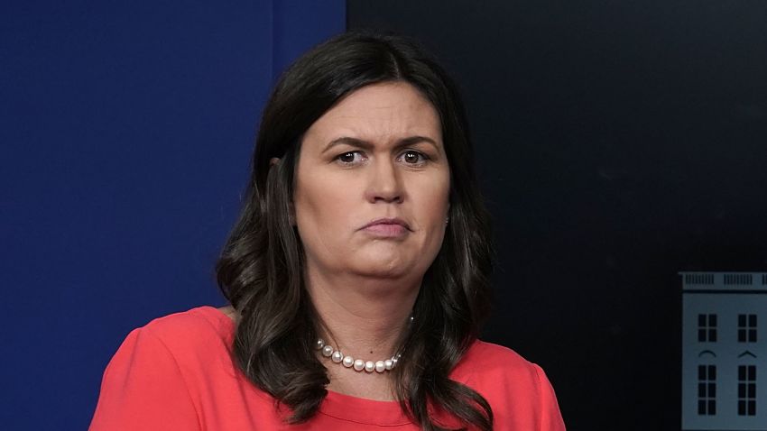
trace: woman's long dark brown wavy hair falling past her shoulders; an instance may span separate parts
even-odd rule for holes
[[[476,183],[466,114],[457,87],[419,45],[402,37],[347,32],[304,54],[263,110],[243,207],[217,261],[220,289],[240,314],[234,342],[250,381],[304,422],[327,395],[314,351],[319,319],[305,289],[304,255],[290,208],[303,133],[344,96],[381,82],[407,82],[436,108],[450,166],[450,223],[424,274],[415,319],[401,335],[392,371],[404,413],[423,429],[445,429],[430,408],[465,426],[493,427],[493,411],[450,371],[476,340],[489,309],[493,245]],[[281,158],[270,168],[270,159]],[[428,408],[429,407],[429,408]]]

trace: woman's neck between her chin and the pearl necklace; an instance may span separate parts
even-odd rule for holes
[[[328,344],[362,360],[391,357],[408,325],[419,280],[307,271],[307,290]]]

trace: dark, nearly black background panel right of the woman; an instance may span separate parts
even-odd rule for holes
[[[541,363],[568,429],[679,429],[677,272],[767,268],[765,23],[761,1],[347,1],[463,88],[485,339]]]

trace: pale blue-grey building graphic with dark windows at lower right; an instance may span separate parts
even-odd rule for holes
[[[767,431],[767,273],[682,276],[682,431]]]

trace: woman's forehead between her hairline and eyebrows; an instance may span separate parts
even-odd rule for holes
[[[308,142],[353,136],[386,142],[406,136],[428,136],[441,144],[439,115],[411,84],[390,82],[362,87],[333,106],[310,126]]]

